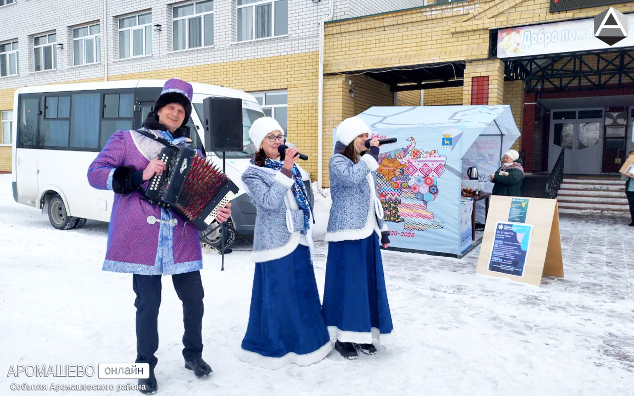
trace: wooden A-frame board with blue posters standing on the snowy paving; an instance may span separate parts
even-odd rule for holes
[[[492,196],[475,272],[538,287],[564,278],[557,200]]]

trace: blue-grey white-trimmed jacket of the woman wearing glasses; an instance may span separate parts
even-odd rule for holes
[[[304,212],[290,201],[295,201],[290,191],[293,179],[252,165],[242,174],[242,182],[257,212],[252,260],[267,262],[294,252],[304,231]]]

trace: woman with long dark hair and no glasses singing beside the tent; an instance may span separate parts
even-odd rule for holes
[[[357,348],[375,354],[373,342],[392,342],[380,252],[381,245],[389,246],[389,230],[375,188],[378,138],[370,140],[366,150],[369,134],[361,118],[347,118],[337,127],[339,141],[330,158],[332,208],[325,237],[323,313],[330,336],[337,339],[335,348],[346,359],[356,359]]]

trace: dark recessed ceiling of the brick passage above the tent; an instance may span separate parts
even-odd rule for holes
[[[465,61],[444,63],[427,63],[391,68],[374,68],[353,70],[325,75],[367,75],[375,80],[388,84],[391,92],[417,91],[446,87],[462,87],[465,75]]]

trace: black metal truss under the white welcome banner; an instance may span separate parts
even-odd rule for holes
[[[629,86],[634,83],[634,48],[510,58],[505,80],[524,80],[527,93]]]

